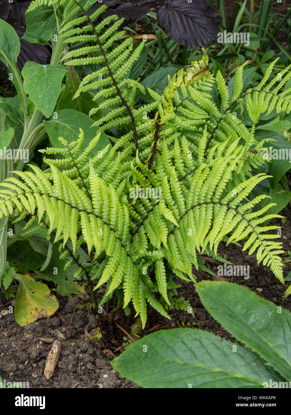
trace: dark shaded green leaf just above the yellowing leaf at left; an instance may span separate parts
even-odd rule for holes
[[[32,249],[27,241],[15,242],[7,249],[7,261],[17,272],[36,271],[46,257]]]

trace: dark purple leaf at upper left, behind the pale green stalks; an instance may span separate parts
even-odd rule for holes
[[[20,26],[13,26],[15,32],[20,39],[20,54],[17,58],[17,66],[22,71],[22,68],[27,61],[33,61],[45,65],[49,59],[50,51],[45,45],[39,45],[37,43],[29,43],[28,41],[21,39],[24,35],[25,29]],[[0,61],[0,68],[7,69],[7,66]]]

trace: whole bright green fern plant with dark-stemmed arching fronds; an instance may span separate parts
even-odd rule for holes
[[[195,282],[193,266],[211,273],[197,254],[225,261],[218,255],[222,241],[243,241],[242,249],[257,251],[258,263],[284,283],[281,243],[270,232],[277,226],[265,225],[280,216],[268,215],[272,203],[254,211],[267,196],[251,199],[250,193],[269,177],[253,172],[266,162],[263,142],[254,139],[255,125],[275,105],[278,113],[290,112],[291,88],[279,93],[290,67],[276,85],[275,78],[269,81],[273,62],[259,85],[244,92],[240,66],[230,96],[221,73],[214,78],[209,72],[205,56],[169,76],[162,95],[148,88],[152,102],[136,106],[137,90],[146,91],[127,74],[144,43],[134,48],[132,38],[118,40],[125,33],[117,32],[122,19],[110,16],[95,23],[106,6],[90,14],[92,1],[80,2],[36,0],[28,12],[43,3],[65,6],[64,42],[86,46],[69,51],[64,64],[98,65],[75,98],[83,91],[94,93],[90,115],[102,110],[93,123],[99,132],[83,152],[82,131],[76,142],[60,137],[59,148],[42,150],[48,169],[30,166],[31,171],[15,172],[19,179],[2,183],[0,217],[16,208],[20,217],[32,216],[27,226],[34,220],[43,223],[55,242],[62,241],[68,266],[86,243],[91,262],[80,266],[75,277],[89,276],[97,281],[95,288],[106,284],[101,305],[115,295],[117,307],[128,313],[132,303],[143,327],[147,303],[168,317],[176,277]],[[237,108],[252,120],[249,129],[233,117]],[[120,137],[113,137],[113,127]],[[92,156],[100,131],[113,147]]]

